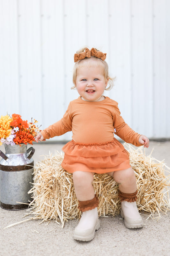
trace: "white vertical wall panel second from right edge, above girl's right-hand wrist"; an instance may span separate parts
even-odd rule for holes
[[[152,1],[132,0],[132,128],[152,136]]]

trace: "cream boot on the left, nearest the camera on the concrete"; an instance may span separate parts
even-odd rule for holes
[[[95,231],[100,228],[97,207],[83,211],[78,226],[74,230],[74,239],[79,241],[91,241],[94,238]]]

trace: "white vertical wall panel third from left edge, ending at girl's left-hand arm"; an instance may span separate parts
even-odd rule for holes
[[[43,128],[64,113],[63,1],[41,1]],[[61,140],[60,136],[56,139]],[[53,139],[54,140],[54,139]]]

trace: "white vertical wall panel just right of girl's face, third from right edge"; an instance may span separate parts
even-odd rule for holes
[[[131,126],[131,14],[130,1],[110,1],[109,70],[116,76],[109,96],[119,103],[124,120]]]

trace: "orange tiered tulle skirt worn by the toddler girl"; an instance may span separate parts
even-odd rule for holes
[[[130,168],[129,152],[117,140],[104,144],[78,144],[73,140],[62,148],[62,167],[66,171],[107,173]]]

